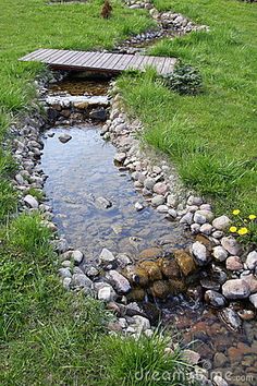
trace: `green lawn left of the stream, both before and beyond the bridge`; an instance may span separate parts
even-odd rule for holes
[[[44,0],[1,0],[0,138],[15,114],[29,109],[30,81],[42,69],[19,63],[39,47],[112,47],[127,34],[152,25],[144,11],[114,3],[113,17],[99,17],[101,1],[47,5]],[[64,291],[57,278],[57,255],[38,216],[15,212],[10,184],[15,164],[0,149],[0,384],[1,385],[164,385],[136,372],[186,371],[181,353],[163,355],[167,341],[155,336],[123,340],[107,334],[103,304]],[[7,221],[8,220],[8,221]],[[171,384],[171,383],[169,383]],[[172,385],[179,385],[173,381]]]

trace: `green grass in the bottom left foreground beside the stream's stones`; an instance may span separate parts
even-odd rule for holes
[[[38,215],[19,216],[0,236],[1,385],[164,386],[179,381],[149,376],[191,371],[180,350],[164,355],[166,337],[111,337],[103,303],[62,289]],[[148,374],[140,382],[139,371]]]

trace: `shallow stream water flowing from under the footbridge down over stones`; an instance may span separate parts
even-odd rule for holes
[[[108,82],[68,80],[50,95],[106,95]],[[114,165],[115,147],[100,136],[101,124],[57,125],[44,133],[41,167],[48,176],[45,192],[53,208],[53,221],[73,249],[95,262],[103,248],[113,253],[138,255],[158,246],[169,253],[192,241],[179,222],[148,206],[136,192],[130,172]],[[59,136],[70,134],[62,143]],[[135,204],[144,203],[142,210]],[[169,242],[164,242],[169,240]],[[200,292],[200,291],[199,291]],[[254,386],[257,373],[257,326],[244,322],[232,331],[215,311],[182,295],[159,301],[162,323],[184,343],[196,349],[207,371],[221,373],[229,385]]]

